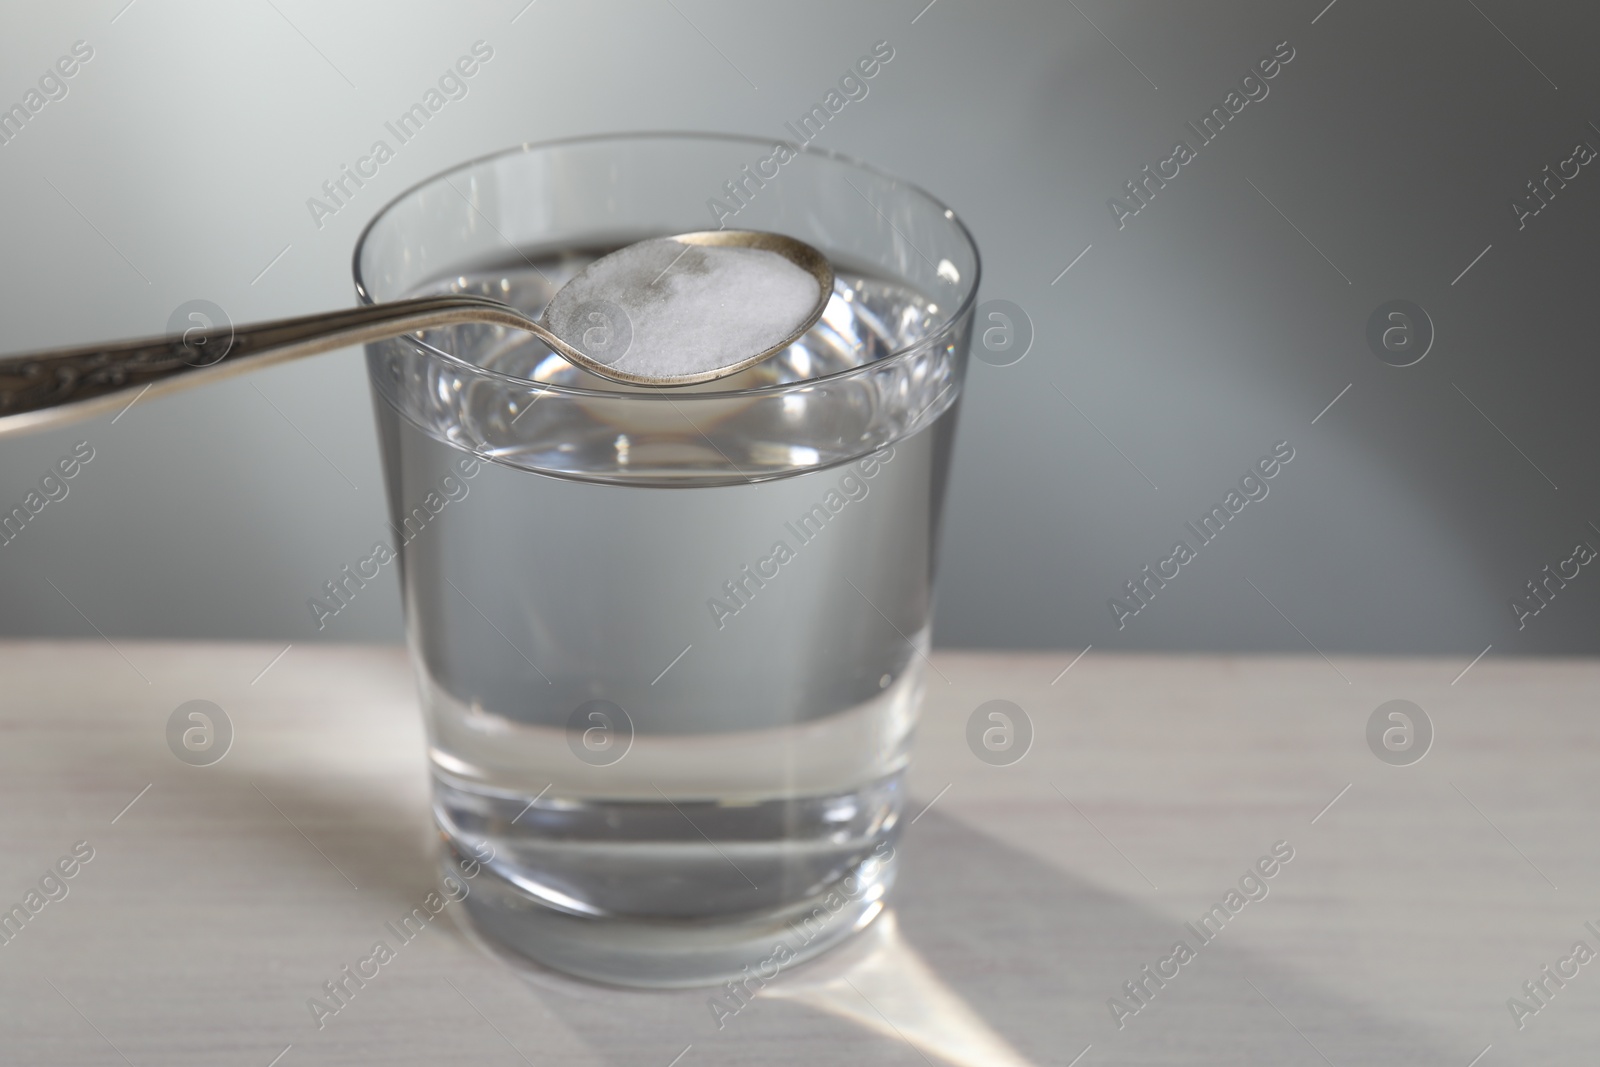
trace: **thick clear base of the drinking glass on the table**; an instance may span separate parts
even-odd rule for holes
[[[864,929],[894,880],[885,843],[822,891],[781,909],[726,918],[646,920],[563,912],[478,864],[446,838],[443,873],[466,881],[477,933],[534,963],[594,982],[685,989],[734,982],[750,993],[795,963]]]

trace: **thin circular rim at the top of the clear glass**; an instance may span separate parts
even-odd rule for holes
[[[754,138],[754,136],[742,134],[742,133],[714,133],[714,131],[696,131],[696,130],[638,130],[638,131],[624,131],[624,133],[592,133],[592,134],[582,134],[582,136],[576,136],[576,138],[555,138],[555,139],[550,139],[550,141],[523,141],[522,144],[515,144],[515,146],[510,146],[510,147],[506,147],[506,149],[498,149],[494,152],[486,152],[485,155],[478,155],[478,157],[474,157],[470,160],[464,160],[461,163],[456,163],[454,166],[448,166],[448,168],[445,168],[442,171],[435,171],[435,173],[422,178],[421,181],[416,181],[411,186],[406,186],[403,190],[400,190],[398,194],[395,194],[389,202],[386,202],[381,208],[378,208],[378,211],[373,214],[373,218],[368,219],[366,226],[362,227],[362,232],[355,238],[355,250],[350,253],[350,274],[355,278],[355,296],[357,296],[357,301],[360,304],[363,304],[363,306],[378,304],[378,301],[373,298],[371,291],[366,286],[366,278],[362,275],[362,253],[366,250],[366,242],[373,235],[373,230],[378,227],[379,222],[382,222],[389,216],[389,213],[394,208],[400,206],[400,203],[403,203],[413,194],[419,192],[421,189],[424,189],[427,186],[432,186],[432,184],[435,184],[438,181],[445,181],[451,174],[459,174],[462,171],[483,166],[485,163],[491,163],[494,160],[509,158],[509,157],[514,157],[514,155],[528,154],[528,152],[533,152],[536,149],[557,149],[557,147],[565,147],[565,146],[587,144],[587,142],[594,142],[594,141],[690,141],[690,139],[699,139],[699,141],[733,141],[733,142],[739,142],[739,144],[752,144],[752,146],[763,146],[763,147],[768,146],[768,144],[786,144],[790,149],[797,147],[797,146],[794,146],[792,142],[787,142],[787,141],[773,139],[773,138]],[[603,397],[603,398],[608,398],[608,400],[630,400],[630,402],[632,400],[666,400],[666,402],[672,402],[672,400],[701,400],[701,398],[707,398],[709,400],[709,398],[730,398],[730,397],[760,397],[763,394],[778,394],[778,392],[787,392],[787,390],[794,390],[794,389],[806,389],[806,387],[818,386],[818,384],[822,384],[822,382],[832,382],[832,381],[838,381],[838,379],[843,379],[843,378],[850,378],[851,374],[875,373],[878,368],[883,368],[888,363],[893,363],[896,360],[909,360],[912,355],[933,347],[933,344],[939,338],[942,338],[946,333],[949,333],[955,326],[955,323],[962,322],[962,318],[965,317],[965,314],[968,312],[968,309],[971,309],[973,304],[978,301],[978,285],[982,280],[982,258],[981,258],[981,254],[978,251],[978,242],[973,238],[973,232],[970,229],[966,229],[966,222],[962,221],[962,216],[958,216],[954,208],[950,208],[947,203],[944,203],[942,200],[939,200],[938,197],[934,197],[931,192],[928,192],[922,186],[918,186],[915,182],[910,182],[910,181],[906,181],[904,178],[898,178],[898,176],[894,176],[894,174],[891,174],[891,173],[888,173],[885,170],[872,166],[870,163],[864,163],[862,160],[858,160],[853,155],[846,155],[843,152],[835,152],[832,149],[819,149],[819,147],[813,147],[813,146],[800,146],[798,150],[800,150],[800,154],[805,154],[805,155],[821,157],[821,158],[834,160],[837,163],[845,163],[848,166],[854,166],[856,170],[861,170],[861,171],[866,171],[866,173],[874,174],[877,178],[882,178],[882,179],[885,179],[888,182],[893,182],[894,186],[901,186],[904,189],[909,189],[910,192],[917,194],[918,197],[923,197],[934,208],[938,208],[939,211],[942,211],[944,218],[955,226],[955,232],[966,243],[968,250],[971,250],[971,254],[973,254],[973,283],[966,290],[966,294],[962,298],[960,304],[957,304],[955,310],[950,312],[950,315],[946,318],[946,322],[939,328],[933,330],[925,338],[920,338],[920,339],[917,339],[917,341],[914,341],[914,342],[910,342],[910,344],[907,344],[904,347],[894,349],[893,352],[890,352],[888,355],[885,355],[882,358],[870,360],[867,363],[859,363],[856,366],[846,366],[843,370],[830,371],[827,374],[818,374],[814,378],[802,378],[800,381],[794,381],[794,382],[776,382],[776,384],[771,384],[771,386],[755,386],[755,387],[746,387],[746,389],[696,389],[694,392],[686,392],[683,389],[672,389],[672,387],[667,387],[667,389],[656,387],[656,389],[642,390],[642,392],[621,392],[621,390],[613,390],[613,389],[586,389],[582,386],[560,386],[560,384],[555,384],[555,382],[541,382],[541,381],[534,381],[531,378],[518,378],[517,374],[507,374],[504,371],[496,371],[496,370],[491,370],[491,368],[486,368],[486,366],[480,366],[477,363],[472,363],[470,360],[461,358],[459,355],[454,355],[451,352],[445,352],[443,349],[437,349],[437,347],[434,347],[430,344],[418,341],[411,334],[403,334],[403,336],[395,338],[395,339],[397,341],[403,341],[403,342],[413,346],[424,357],[446,360],[448,363],[451,363],[454,366],[459,366],[462,370],[472,371],[475,374],[482,374],[483,378],[488,378],[491,381],[499,381],[499,382],[507,384],[507,386],[515,386],[515,387],[522,387],[522,389],[534,389],[534,390],[539,390],[539,392],[550,392],[550,394],[566,395],[566,397],[581,397],[581,398]],[[704,386],[706,382],[701,382],[701,384]],[[710,382],[710,384],[715,384],[715,382]]]

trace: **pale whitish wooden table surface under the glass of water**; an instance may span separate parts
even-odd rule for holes
[[[1595,661],[939,653],[891,912],[722,1029],[706,990],[518,968],[451,923],[318,1029],[437,838],[405,653],[280,651],[0,643],[0,909],[93,849],[0,944],[0,1062],[1496,1067],[1600,1040],[1573,955],[1600,950]],[[234,725],[211,766],[166,745],[190,699]],[[966,745],[992,699],[1034,729],[1008,766]],[[1434,725],[1410,766],[1368,747],[1390,699]],[[1280,841],[1267,896],[1195,937]],[[1118,1027],[1146,965],[1176,974]]]

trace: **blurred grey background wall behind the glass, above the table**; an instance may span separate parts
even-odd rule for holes
[[[973,365],[941,643],[1462,662],[1491,643],[1595,648],[1589,568],[1520,632],[1509,608],[1576,541],[1600,545],[1586,525],[1600,523],[1600,166],[1523,230],[1509,206],[1576,141],[1600,146],[1594,11],[123,5],[5,16],[5,106],[75,40],[94,48],[69,96],[0,146],[5,350],[160,333],[189,299],[235,322],[347,306],[360,227],[437,170],[598,131],[778,138],[886,38],[893,62],[819,144],[947,200],[979,240],[984,299],[1014,301],[1037,331],[1021,363]],[[494,59],[470,94],[318,230],[306,198],[478,38]],[[1283,40],[1296,56],[1267,99],[1118,232],[1107,198],[1178,138],[1194,144],[1184,123]],[[1416,366],[1366,347],[1392,298],[1437,326]],[[384,530],[355,352],[6,438],[0,504],[80,440],[96,458],[67,499],[0,547],[0,632],[400,635],[392,568],[322,633],[306,608]],[[1118,632],[1107,598],[1280,440],[1296,458],[1270,496]]]

